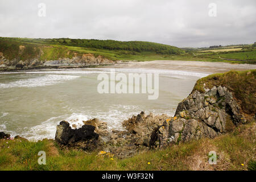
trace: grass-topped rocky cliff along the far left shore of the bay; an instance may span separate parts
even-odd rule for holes
[[[76,53],[68,49],[57,49],[51,46],[19,46],[17,49],[17,51],[0,52],[0,69],[82,67],[114,63],[114,61],[106,59],[104,56],[96,57],[91,53]],[[12,56],[10,56],[11,53]]]

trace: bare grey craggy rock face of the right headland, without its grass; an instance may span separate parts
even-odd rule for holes
[[[169,129],[169,137],[174,137],[175,142],[214,138],[246,121],[225,86],[204,89],[204,93],[193,91],[177,106],[176,120],[172,119]]]

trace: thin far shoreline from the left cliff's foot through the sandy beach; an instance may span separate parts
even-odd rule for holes
[[[208,61],[154,60],[154,61],[118,61],[115,64],[77,65],[77,66],[46,66],[31,68],[0,68],[0,72],[29,71],[39,69],[82,69],[82,68],[143,68],[191,71],[199,73],[224,73],[231,70],[245,71],[256,69],[254,64],[234,64]]]

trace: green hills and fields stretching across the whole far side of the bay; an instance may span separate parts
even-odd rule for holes
[[[20,53],[20,46],[26,47],[22,53]],[[0,38],[0,52],[9,60],[15,57],[22,60],[35,57],[39,60],[57,60],[64,57],[72,58],[77,54],[92,53],[110,60],[184,60],[256,64],[256,49],[253,46],[245,46],[240,51],[226,51],[225,53],[217,52],[217,50],[210,52],[210,49],[204,49],[202,52],[200,48],[180,49],[164,44],[139,41]]]

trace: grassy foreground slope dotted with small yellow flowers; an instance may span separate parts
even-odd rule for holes
[[[2,139],[0,170],[256,170],[255,129],[251,122],[215,139],[180,143],[127,159],[60,150],[53,140]],[[46,165],[38,164],[39,151],[46,152]],[[208,163],[209,151],[216,151],[216,165]]]

